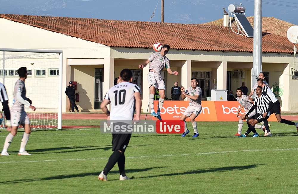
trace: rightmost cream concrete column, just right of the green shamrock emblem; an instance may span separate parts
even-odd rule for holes
[[[290,63],[288,64],[284,64],[283,65],[284,67],[284,70],[283,70],[283,74],[280,76],[280,84],[283,85],[283,87],[280,85],[280,89],[283,90],[283,94],[282,96],[280,96],[281,98],[281,110],[283,111],[289,111],[289,108],[290,108],[290,103],[291,101],[289,100],[290,97],[289,97],[289,92],[290,92]],[[272,84],[271,83],[271,87],[272,87]],[[276,87],[276,86],[275,86]],[[274,90],[274,88],[273,88]]]

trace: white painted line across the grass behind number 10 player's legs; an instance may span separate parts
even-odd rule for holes
[[[205,152],[205,153],[197,153],[197,154],[170,154],[170,155],[156,155],[156,156],[131,156],[131,157],[125,157],[125,158],[172,157],[172,156],[190,156],[190,155],[203,155],[203,154],[225,154],[225,153],[246,152],[246,151],[282,151],[282,150],[298,150],[298,148],[221,151],[221,152]],[[4,156],[2,156],[2,157],[4,157]],[[0,162],[0,164],[21,163],[21,162],[23,163],[23,162],[80,161],[80,160],[99,160],[99,159],[108,159],[108,157],[103,157],[103,158],[82,158],[82,159],[60,159],[60,160],[10,161],[10,162]]]

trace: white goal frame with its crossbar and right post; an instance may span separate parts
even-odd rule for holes
[[[62,129],[63,51],[60,51],[60,50],[37,50],[37,49],[14,49],[14,48],[0,48],[0,51],[3,51],[3,52],[28,52],[28,53],[55,53],[55,54],[59,54],[58,126],[57,126],[57,128]],[[3,64],[3,69],[4,69],[4,64]]]

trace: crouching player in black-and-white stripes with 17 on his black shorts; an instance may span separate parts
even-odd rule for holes
[[[257,96],[254,99],[254,105],[247,112],[246,117],[248,117],[249,113],[251,113],[255,108],[257,108],[257,113],[251,119],[247,120],[247,124],[249,125],[249,128],[247,129],[246,133],[238,137],[246,137],[251,131],[254,132],[252,137],[258,137],[259,134],[257,134],[256,130],[254,129],[254,125],[262,121],[264,121],[264,126],[266,129],[265,136],[272,136],[268,126],[267,119],[270,116],[269,110],[271,110],[271,108],[273,107],[273,103],[270,100],[270,98],[262,94],[261,86],[258,86],[256,88],[256,95]]]

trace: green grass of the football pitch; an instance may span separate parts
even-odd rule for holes
[[[72,120],[77,123],[79,120]],[[63,120],[63,125],[69,121]],[[81,120],[98,125],[98,120]],[[85,124],[84,124],[85,123]],[[294,126],[270,122],[272,137],[238,138],[238,122],[198,122],[199,137],[133,134],[108,182],[97,179],[111,155],[111,134],[99,129],[36,130],[18,156],[21,136],[0,157],[1,193],[297,193],[298,135]],[[188,123],[191,129],[191,124]],[[243,127],[243,132],[247,129]],[[8,132],[0,133],[0,146]]]

